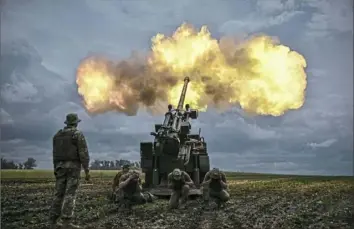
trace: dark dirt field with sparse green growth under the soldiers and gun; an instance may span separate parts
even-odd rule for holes
[[[85,228],[333,228],[353,225],[353,178],[286,177],[228,173],[232,199],[206,211],[191,200],[187,209],[167,211],[167,200],[118,211],[107,199],[112,172],[95,172],[82,183],[76,223]],[[54,191],[52,171],[1,172],[1,228],[48,228]]]

